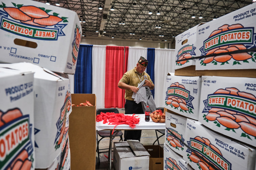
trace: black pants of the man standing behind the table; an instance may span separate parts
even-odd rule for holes
[[[125,114],[144,114],[141,103],[137,104],[134,101],[126,100]],[[141,120],[140,120],[141,121]],[[124,131],[124,141],[126,140],[139,140],[140,141],[141,130],[125,130]]]

